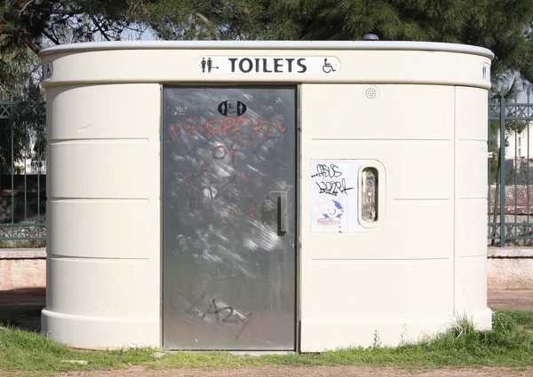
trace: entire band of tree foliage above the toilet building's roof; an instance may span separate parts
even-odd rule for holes
[[[0,49],[91,40],[382,40],[467,43],[533,81],[533,0],[4,0]]]

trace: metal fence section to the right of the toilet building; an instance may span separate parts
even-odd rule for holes
[[[533,246],[531,87],[489,96],[489,245]],[[496,97],[496,96],[495,96]],[[494,98],[494,97],[493,97]],[[502,142],[503,141],[503,142]]]

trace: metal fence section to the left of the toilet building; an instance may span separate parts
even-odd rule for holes
[[[0,247],[46,237],[45,105],[0,101]]]

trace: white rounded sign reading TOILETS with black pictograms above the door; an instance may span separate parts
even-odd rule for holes
[[[203,56],[196,71],[205,75],[335,75],[340,61],[335,57],[232,57]]]

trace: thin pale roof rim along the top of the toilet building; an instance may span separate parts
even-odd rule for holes
[[[492,51],[468,44],[391,41],[113,41],[60,44],[39,55],[99,50],[404,50],[460,52],[494,59]]]

